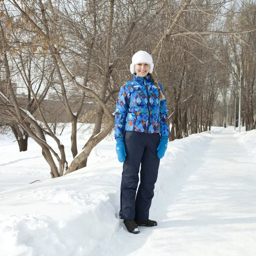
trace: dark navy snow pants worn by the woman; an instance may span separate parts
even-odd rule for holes
[[[159,142],[160,134],[125,131],[126,157],[121,182],[121,219],[148,219],[160,163],[157,157]],[[139,171],[140,186],[137,191]]]

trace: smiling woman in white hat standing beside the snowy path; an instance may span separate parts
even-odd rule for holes
[[[153,68],[151,55],[136,52],[130,66],[133,80],[121,86],[116,102],[116,153],[119,162],[124,162],[119,216],[134,234],[140,233],[138,226],[157,226],[148,219],[149,208],[169,137],[163,87],[154,81]]]

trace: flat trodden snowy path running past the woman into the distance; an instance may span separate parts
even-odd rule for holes
[[[157,227],[119,230],[91,255],[255,256],[256,161],[233,135],[216,134],[166,198],[155,198]]]

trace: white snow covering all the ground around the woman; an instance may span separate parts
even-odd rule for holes
[[[60,137],[70,148],[70,131]],[[90,131],[78,137],[81,150]],[[254,256],[255,137],[229,127],[169,142],[150,210],[158,225],[134,235],[118,216],[113,134],[86,168],[55,179],[31,138],[18,152],[0,135],[0,256]]]

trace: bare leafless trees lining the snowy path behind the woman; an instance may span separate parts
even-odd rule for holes
[[[210,129],[240,84],[246,128],[255,128],[253,1],[1,0],[0,6],[1,122],[12,127],[21,151],[28,135],[41,146],[52,177],[86,166],[111,132],[117,93],[131,79],[131,56],[140,49],[153,56],[153,75],[166,93],[170,140]],[[25,103],[12,86],[17,79],[26,88]],[[49,94],[72,123],[70,165],[43,107]],[[89,102],[94,130],[77,155],[77,123]]]

